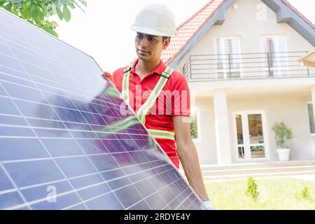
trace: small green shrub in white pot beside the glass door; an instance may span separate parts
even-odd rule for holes
[[[279,155],[280,161],[288,161],[290,156],[290,148],[285,145],[286,139],[292,139],[292,132],[291,130],[286,127],[286,125],[281,123],[276,123],[274,127],[272,127],[272,130],[274,131],[275,139],[276,139],[276,146],[279,146],[279,148],[276,149],[276,152]]]

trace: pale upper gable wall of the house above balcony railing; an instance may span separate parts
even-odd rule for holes
[[[225,12],[223,25],[214,25],[181,60],[176,69],[182,71],[189,55],[214,55],[214,38],[239,36],[241,53],[261,52],[261,35],[284,34],[286,51],[309,51],[313,46],[286,23],[276,22],[276,13],[260,0],[237,0]],[[262,9],[263,8],[263,9]],[[266,13],[263,13],[265,10]],[[265,18],[264,15],[265,14]]]

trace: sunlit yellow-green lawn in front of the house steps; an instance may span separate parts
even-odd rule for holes
[[[311,209],[315,210],[315,181],[299,179],[255,179],[258,200],[246,195],[247,180],[206,184],[211,202],[217,209]],[[307,186],[309,197],[302,197]],[[304,189],[305,190],[305,189]],[[305,194],[304,194],[305,195]]]

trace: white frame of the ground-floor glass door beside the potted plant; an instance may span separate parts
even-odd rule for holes
[[[239,144],[237,142],[237,122],[236,122],[236,119],[235,119],[235,116],[237,115],[241,115],[241,116],[248,116],[248,114],[261,114],[262,116],[262,132],[264,134],[264,142],[265,142],[265,158],[244,158],[244,159],[241,159],[239,158],[239,150],[238,150],[238,147],[239,147]],[[233,137],[235,139],[235,160],[237,162],[250,162],[250,161],[269,161],[270,160],[270,155],[269,155],[269,141],[268,141],[268,132],[267,130],[268,127],[267,127],[267,116],[266,116],[266,113],[265,111],[263,110],[259,110],[259,111],[234,111],[232,113],[232,116],[233,116],[233,130],[234,130],[234,133],[233,133]],[[247,125],[247,127],[246,127]],[[243,141],[244,141],[244,146],[248,145],[249,146],[249,142],[247,141],[246,137],[244,137],[244,133],[248,133],[248,123],[244,124],[243,123],[243,120],[242,120],[242,123],[241,123],[241,126],[242,126],[242,130],[243,130]],[[251,155],[251,149],[247,149],[245,148],[244,150],[244,153],[245,155],[247,154],[248,156]],[[247,151],[247,152],[246,152]]]

